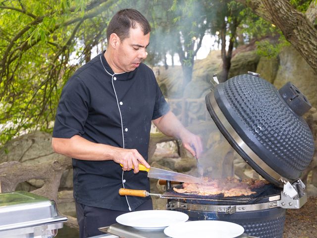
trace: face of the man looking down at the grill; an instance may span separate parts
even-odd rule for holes
[[[146,48],[150,42],[150,33],[144,35],[140,27],[130,28],[128,38],[119,41],[114,55],[114,63],[118,72],[130,72],[139,67],[147,58]]]

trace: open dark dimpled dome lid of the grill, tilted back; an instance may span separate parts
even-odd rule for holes
[[[253,169],[277,186],[298,179],[314,154],[312,132],[301,117],[310,104],[295,86],[296,90],[290,86],[294,85],[281,88],[281,96],[259,75],[242,74],[216,85],[206,96],[211,118],[229,143]],[[291,95],[290,91],[296,95],[285,96]],[[290,98],[298,100],[295,106],[286,102]]]

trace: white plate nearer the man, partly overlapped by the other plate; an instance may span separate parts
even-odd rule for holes
[[[186,222],[187,220],[187,214],[169,210],[129,212],[116,218],[119,224],[144,230],[163,229],[174,223]]]

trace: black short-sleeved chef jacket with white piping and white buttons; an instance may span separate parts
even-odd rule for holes
[[[65,84],[53,137],[80,135],[89,141],[137,149],[148,159],[151,121],[169,111],[153,71],[141,63],[132,72],[114,74],[104,53],[82,67]],[[149,198],[120,196],[121,187],[150,190],[147,172],[123,172],[108,161],[72,159],[76,202],[131,211]]]

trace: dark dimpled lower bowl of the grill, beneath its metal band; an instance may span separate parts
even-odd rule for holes
[[[259,238],[283,238],[285,209],[270,208],[260,211],[225,214],[176,208],[175,211],[186,213],[190,221],[217,220],[239,224],[249,236]]]

